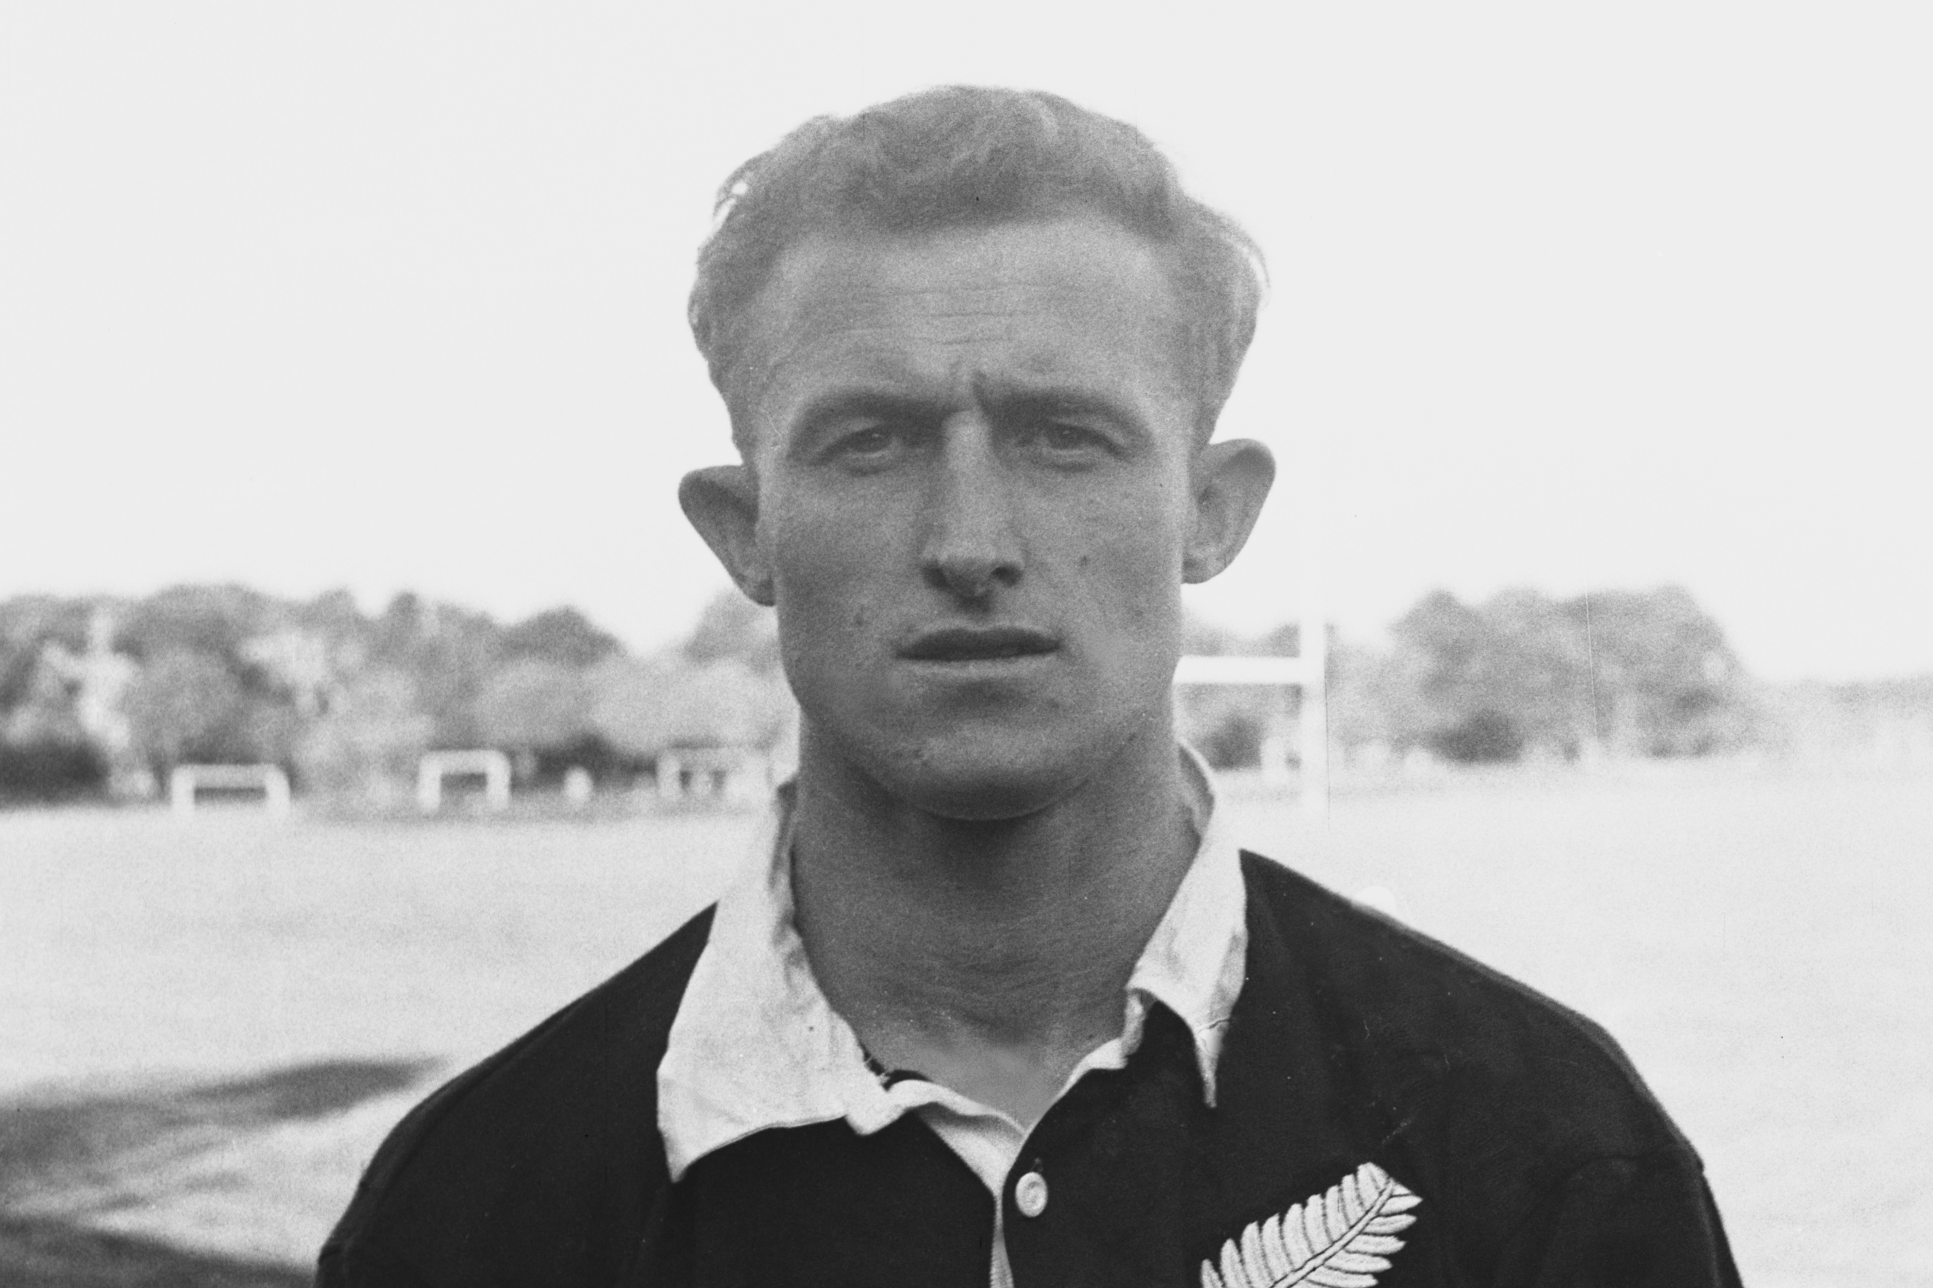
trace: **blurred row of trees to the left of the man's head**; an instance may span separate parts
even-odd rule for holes
[[[791,698],[771,623],[719,598],[632,656],[572,607],[499,623],[398,594],[176,586],[0,601],[0,797],[143,797],[178,764],[276,764],[383,805],[425,750],[495,746],[526,783],[634,777],[675,746],[767,746]]]

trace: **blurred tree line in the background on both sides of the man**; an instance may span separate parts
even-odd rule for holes
[[[1193,625],[1191,652],[1295,654]],[[1332,638],[1343,760],[1705,756],[1767,737],[1763,690],[1678,588],[1570,600],[1434,592],[1386,646]],[[1193,690],[1183,729],[1220,766],[1293,723],[1282,694]],[[141,600],[0,601],[0,799],[141,797],[178,764],[288,770],[298,791],[394,799],[431,748],[495,746],[543,783],[628,781],[686,746],[771,746],[791,696],[771,615],[713,600],[673,648],[634,656],[572,607],[499,623],[398,594],[286,600],[176,586]]]

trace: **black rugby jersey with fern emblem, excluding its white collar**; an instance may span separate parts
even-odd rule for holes
[[[1241,864],[1216,1102],[1154,1008],[1028,1135],[1001,1199],[1017,1284],[1738,1284],[1697,1155],[1608,1035]],[[671,1184],[653,1073],[709,922],[416,1108],[319,1282],[980,1288],[992,1197],[916,1116],[760,1131]]]

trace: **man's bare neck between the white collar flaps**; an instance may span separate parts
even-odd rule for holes
[[[808,735],[810,737],[810,735]],[[1195,853],[1168,725],[1032,814],[887,801],[800,756],[793,884],[812,971],[860,1042],[1023,1120],[1117,1037]]]

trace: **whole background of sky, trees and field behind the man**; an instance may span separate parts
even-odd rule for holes
[[[1044,87],[1268,253],[1191,590],[1260,849],[1606,1023],[1747,1282],[1933,1284],[1933,17],[0,10],[0,1280],[296,1284],[783,772],[677,478],[719,182]],[[464,752],[443,756],[441,752]],[[216,766],[216,768],[209,768]],[[427,768],[425,768],[427,766]]]

